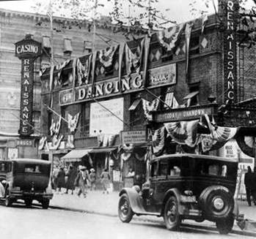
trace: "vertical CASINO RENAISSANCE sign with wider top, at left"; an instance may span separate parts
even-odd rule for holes
[[[34,41],[31,35],[15,43],[15,56],[21,59],[21,136],[32,134],[34,60],[41,55],[41,43]]]

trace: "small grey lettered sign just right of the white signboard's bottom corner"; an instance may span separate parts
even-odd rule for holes
[[[145,130],[122,131],[121,132],[122,144],[134,144],[146,142]]]

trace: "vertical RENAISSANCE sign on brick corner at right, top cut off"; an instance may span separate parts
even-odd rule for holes
[[[225,102],[236,102],[237,72],[236,72],[236,29],[239,4],[238,0],[221,1],[224,20],[224,99]]]

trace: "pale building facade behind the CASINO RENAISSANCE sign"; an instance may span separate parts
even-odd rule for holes
[[[55,64],[67,58],[76,58],[92,50],[91,23],[84,23],[81,29],[66,18],[54,18],[54,60]],[[114,34],[116,26],[106,20],[97,23],[95,48],[105,48],[125,37]],[[37,157],[40,135],[41,82],[40,69],[50,65],[51,31],[46,15],[27,12],[0,10],[0,159],[12,157]],[[43,52],[34,64],[33,124],[36,130],[31,137],[21,138],[21,60],[15,57],[15,42],[31,34],[32,39],[42,43]],[[102,39],[105,39],[104,42]]]

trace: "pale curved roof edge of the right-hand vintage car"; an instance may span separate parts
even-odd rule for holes
[[[212,156],[212,155],[202,155],[202,154],[193,154],[193,153],[176,153],[176,154],[164,154],[162,156],[158,156],[155,159],[152,159],[151,162],[156,162],[161,159],[177,159],[177,158],[183,158],[183,157],[189,157],[192,159],[213,159],[218,161],[224,161],[224,162],[231,162],[231,163],[238,163],[238,160],[236,159],[230,159],[230,158],[224,158],[219,156]]]

